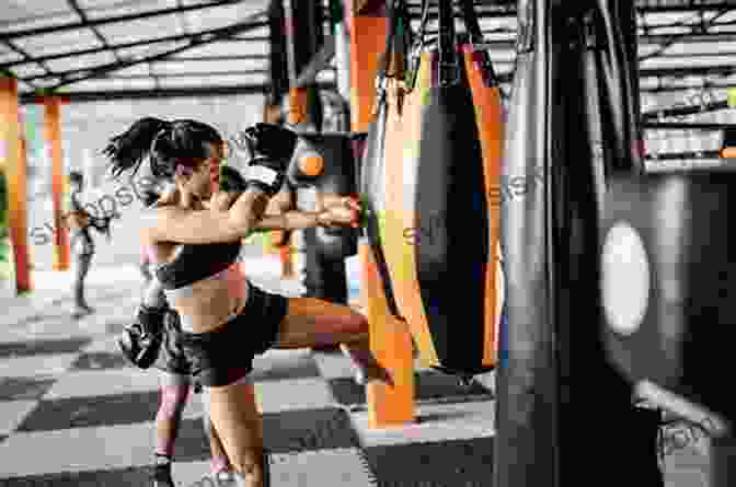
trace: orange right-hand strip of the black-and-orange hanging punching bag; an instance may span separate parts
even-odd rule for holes
[[[461,0],[462,16],[469,34],[463,45],[463,60],[473,95],[475,120],[483,151],[483,174],[488,208],[488,259],[485,273],[485,322],[483,328],[483,363],[495,366],[498,357],[498,326],[503,303],[501,276],[501,165],[504,146],[504,105],[498,78],[487,50],[482,46],[483,33],[472,0]]]

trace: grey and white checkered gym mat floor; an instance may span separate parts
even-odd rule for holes
[[[277,262],[251,260],[262,286],[300,292],[298,283],[279,281]],[[355,263],[348,268],[355,298]],[[0,301],[9,318],[0,327],[0,486],[147,485],[157,375],[128,367],[114,341],[135,309],[140,277],[133,266],[94,268],[90,302],[97,313],[79,322],[68,317],[70,295],[58,291],[68,289],[65,279],[36,273],[33,298]],[[370,430],[364,389],[341,353],[276,350],[258,357],[253,376],[274,487],[491,486],[492,375],[465,389],[417,369],[417,422]],[[208,473],[200,415],[193,395],[174,454],[177,485]],[[668,443],[667,487],[708,486],[703,441]]]

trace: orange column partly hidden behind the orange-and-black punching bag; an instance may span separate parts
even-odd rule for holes
[[[353,131],[368,131],[371,123],[378,60],[386,46],[388,19],[381,11],[358,11],[365,1],[350,3],[350,104]],[[393,385],[367,385],[370,428],[412,422],[414,406],[414,358],[406,325],[394,318],[388,308],[381,277],[370,246],[358,247],[363,269],[364,308],[370,326],[370,348],[389,371]]]

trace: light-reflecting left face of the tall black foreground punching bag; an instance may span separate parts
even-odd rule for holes
[[[502,199],[505,364],[496,373],[497,432],[491,482],[496,487],[548,485],[556,476],[553,405],[557,374],[547,248],[548,147],[556,112],[549,80],[556,59],[552,56],[550,2],[520,0],[517,11],[517,55],[501,181],[509,187],[517,187],[518,182],[524,190],[508,192]]]

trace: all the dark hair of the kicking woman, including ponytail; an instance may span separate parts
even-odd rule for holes
[[[179,164],[193,166],[210,155],[208,143],[221,142],[217,129],[202,121],[146,117],[111,138],[103,153],[115,178],[130,169],[135,174],[148,156],[153,176],[171,179]]]

